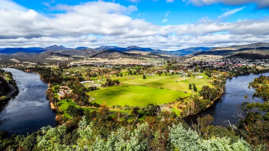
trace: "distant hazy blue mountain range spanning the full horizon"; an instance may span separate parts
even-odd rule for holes
[[[19,54],[18,54],[19,53]],[[29,55],[27,55],[29,54]],[[30,55],[32,54],[32,55]],[[218,55],[223,57],[263,57],[269,58],[269,43],[259,42],[248,45],[236,45],[229,47],[190,47],[176,51],[163,51],[159,49],[142,48],[138,46],[129,46],[126,48],[117,46],[101,46],[95,49],[87,47],[66,48],[62,45],[53,45],[46,48],[29,47],[29,48],[0,48],[2,56],[40,56],[63,55],[71,57],[176,57],[176,56],[199,56],[199,55]],[[134,55],[135,54],[135,55]],[[256,55],[255,55],[256,54]]]

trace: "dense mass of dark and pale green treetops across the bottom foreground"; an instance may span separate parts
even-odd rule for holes
[[[155,108],[152,106],[152,111]],[[224,127],[191,129],[167,111],[149,113],[145,121],[118,121],[101,106],[56,128],[28,136],[0,132],[0,149],[10,151],[252,151],[252,146]],[[150,109],[148,112],[151,112]],[[133,111],[136,113],[136,111]],[[207,117],[208,118],[208,117]],[[204,121],[207,121],[205,118]],[[209,117],[210,118],[210,117]],[[139,123],[138,123],[139,122]],[[210,130],[210,131],[209,131]]]

